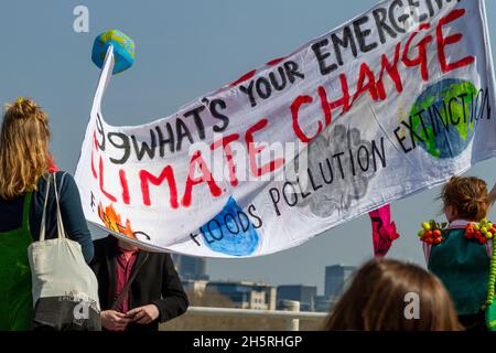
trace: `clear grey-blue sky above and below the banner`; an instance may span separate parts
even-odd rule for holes
[[[0,4],[0,100],[29,96],[39,101],[51,117],[53,154],[62,169],[74,172],[99,74],[90,61],[99,33],[120,29],[137,44],[136,65],[112,78],[104,111],[109,124],[139,125],[292,52],[376,2],[6,0]],[[78,4],[89,9],[89,33],[73,31],[73,9]],[[496,1],[486,7],[494,18]],[[496,24],[489,28],[495,46]],[[495,167],[489,160],[468,174],[492,186]],[[390,257],[423,264],[416,233],[419,222],[439,213],[438,193],[433,189],[392,204],[402,237]],[[370,256],[370,223],[363,216],[280,254],[208,260],[207,270],[214,279],[304,282],[322,290],[325,266],[359,265]]]

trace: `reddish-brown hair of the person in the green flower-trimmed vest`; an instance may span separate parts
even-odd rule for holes
[[[443,186],[441,199],[448,221],[481,221],[487,216],[489,194],[484,180],[475,176],[453,176]]]

